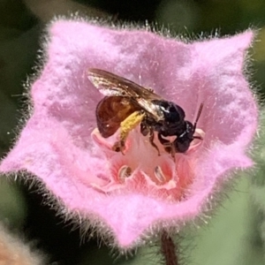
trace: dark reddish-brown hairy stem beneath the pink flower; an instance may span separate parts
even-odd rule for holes
[[[163,231],[161,236],[161,253],[163,254],[165,265],[180,265],[177,246],[166,231]]]

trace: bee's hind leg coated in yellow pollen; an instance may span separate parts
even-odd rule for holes
[[[128,134],[140,124],[142,119],[145,117],[143,111],[134,111],[130,116],[126,117],[120,124],[120,135],[119,140],[114,144],[112,149],[116,152],[121,152],[123,155],[125,150],[125,140]]]

